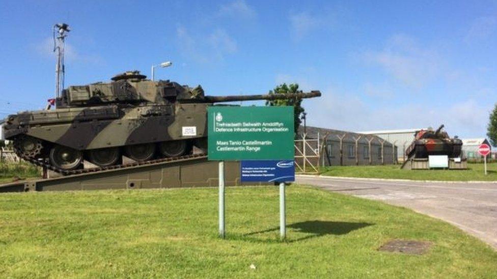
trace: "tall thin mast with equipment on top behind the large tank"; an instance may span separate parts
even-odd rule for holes
[[[69,25],[66,23],[57,23],[53,25],[53,52],[57,51],[57,64],[55,67],[55,97],[61,96],[61,91],[64,89],[64,41],[69,32]],[[56,33],[58,34],[56,36]]]

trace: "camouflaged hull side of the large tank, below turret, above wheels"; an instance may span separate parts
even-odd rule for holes
[[[18,123],[5,126],[5,135],[8,140],[26,135],[76,150],[192,140],[207,137],[208,105],[107,106],[25,112],[18,114]],[[186,127],[189,128],[187,134],[183,133]]]

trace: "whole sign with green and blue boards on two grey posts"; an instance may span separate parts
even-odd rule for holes
[[[244,160],[241,181],[279,182],[280,237],[286,237],[285,182],[295,181],[293,107],[212,106],[208,159],[219,161],[219,236],[225,238],[224,160]]]

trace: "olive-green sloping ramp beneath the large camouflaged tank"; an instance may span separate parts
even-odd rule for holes
[[[225,162],[225,184],[240,185],[240,163]],[[205,154],[127,164],[118,168],[61,176],[49,179],[19,180],[0,185],[0,193],[31,191],[68,191],[103,189],[152,189],[215,187],[218,162]]]

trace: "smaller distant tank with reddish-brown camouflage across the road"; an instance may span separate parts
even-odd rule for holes
[[[441,125],[433,131],[426,129],[417,131],[415,139],[407,147],[407,158],[428,158],[429,155],[447,155],[457,158],[461,155],[462,141],[457,137],[450,138]]]

